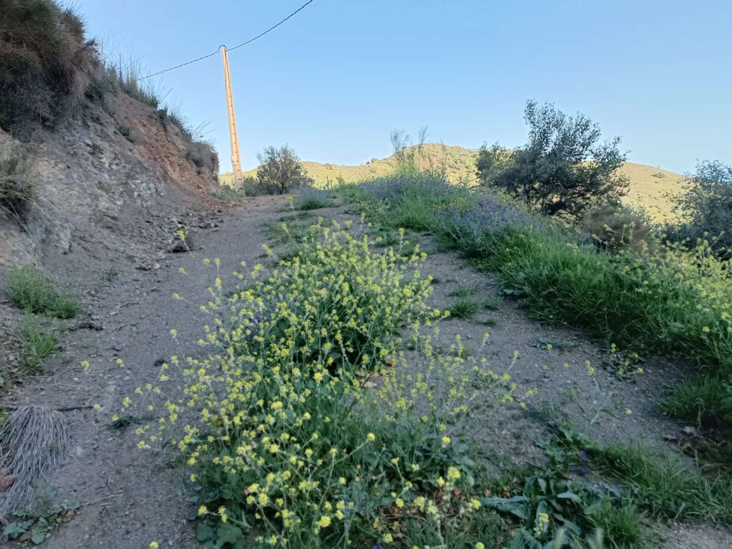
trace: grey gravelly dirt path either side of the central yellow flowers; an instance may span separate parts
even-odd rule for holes
[[[80,236],[80,241],[86,242],[83,250],[58,258],[51,266],[58,280],[73,283],[76,293],[87,302],[91,321],[103,329],[67,332],[61,340],[63,350],[46,365],[51,376],[34,378],[14,400],[53,408],[99,403],[102,410],[66,414],[72,458],[53,479],[55,500],[96,503],[82,507],[45,542],[46,546],[127,549],[145,548],[157,540],[161,547],[197,547],[195,505],[187,501],[189,486],[180,471],[163,456],[137,449],[134,427],[111,430],[109,417],[119,409],[124,395],[154,379],[158,359],[197,352],[195,340],[205,324],[198,305],[206,301],[212,275],[204,269],[203,258],[221,258],[223,272],[236,269],[242,260],[250,266],[263,261],[263,225],[287,215],[285,204],[280,197],[254,198],[246,206],[214,215],[202,224],[208,228],[195,233],[190,253],[155,255],[155,246],[146,245],[150,235],[144,231],[130,235],[125,246],[94,242],[89,234],[86,240]],[[354,219],[343,207],[313,214]],[[137,226],[133,221],[130,230]],[[494,277],[464,266],[455,253],[433,253],[428,237],[419,239],[423,250],[430,253],[423,272],[438,280],[430,297],[433,306],[449,308],[455,299],[450,294],[460,288],[474,288],[479,298],[498,293]],[[132,255],[147,250],[149,258],[135,260],[136,264],[134,258],[125,259],[121,250],[127,246],[135,252]],[[108,281],[111,266],[118,274]],[[187,275],[179,272],[181,267]],[[174,301],[173,292],[185,299]],[[177,342],[170,337],[172,328],[179,333]],[[486,331],[490,337],[482,346]],[[680,375],[664,361],[650,361],[644,365],[645,373],[632,382],[619,381],[600,367],[605,354],[600,346],[576,330],[549,328],[532,321],[511,299],[503,299],[499,310],[481,309],[471,319],[445,321],[438,343],[447,347],[458,333],[472,352],[485,356],[499,373],[508,370],[514,351],[518,351],[509,371],[518,392],[538,389],[526,410],[502,408],[497,414],[475,419],[474,431],[485,449],[483,457],[497,469],[542,460],[533,443],[546,436],[553,422],[560,419],[571,420],[601,441],[645,439],[662,444],[664,434],[674,434],[681,427],[661,417],[652,400]],[[131,375],[116,365],[118,358],[124,359]],[[91,362],[88,373],[79,366],[85,359]],[[586,361],[595,367],[592,375]],[[613,414],[600,412],[603,408]],[[729,532],[710,527],[672,528],[667,536],[666,547],[732,548]]]

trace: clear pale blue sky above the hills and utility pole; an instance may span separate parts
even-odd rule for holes
[[[108,51],[162,70],[269,28],[305,0],[80,0]],[[477,147],[526,139],[529,98],[581,111],[630,160],[732,163],[729,0],[315,0],[230,54],[242,163],[391,154],[389,131]],[[220,56],[156,79],[231,171]]]

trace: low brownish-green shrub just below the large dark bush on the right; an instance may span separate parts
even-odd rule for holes
[[[653,244],[653,221],[642,209],[602,206],[587,213],[582,228],[605,250],[643,252]]]

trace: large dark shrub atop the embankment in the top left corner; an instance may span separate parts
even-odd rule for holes
[[[32,21],[32,24],[29,24]],[[54,0],[0,4],[0,127],[52,124],[86,94],[97,45],[84,21]]]

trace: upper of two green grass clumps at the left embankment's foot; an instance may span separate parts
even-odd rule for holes
[[[59,293],[48,278],[31,266],[10,269],[5,291],[26,313],[74,318],[81,312],[74,296]]]

